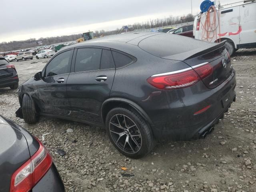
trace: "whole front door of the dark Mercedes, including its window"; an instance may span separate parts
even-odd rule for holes
[[[67,116],[69,102],[66,82],[70,73],[74,50],[67,50],[56,55],[43,70],[42,80],[45,87],[40,90],[41,111],[47,114]]]

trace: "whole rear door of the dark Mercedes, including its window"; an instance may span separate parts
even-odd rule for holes
[[[100,107],[110,95],[114,75],[115,65],[109,49],[78,48],[67,80],[70,117],[101,122]]]

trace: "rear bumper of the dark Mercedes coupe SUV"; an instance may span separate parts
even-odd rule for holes
[[[152,131],[158,140],[197,139],[222,118],[235,99],[235,87],[234,72],[214,89],[198,82],[190,88],[160,92],[152,101],[140,104],[152,120]],[[206,106],[210,108],[196,114]]]

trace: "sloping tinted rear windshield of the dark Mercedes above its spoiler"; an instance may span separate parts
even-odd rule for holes
[[[166,57],[197,49],[206,44],[208,42],[167,33],[145,38],[139,43],[139,47],[154,56]]]

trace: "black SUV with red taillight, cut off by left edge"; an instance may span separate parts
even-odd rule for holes
[[[13,64],[9,64],[8,61],[0,57],[0,88],[10,87],[11,89],[17,89],[19,86],[18,73]]]

